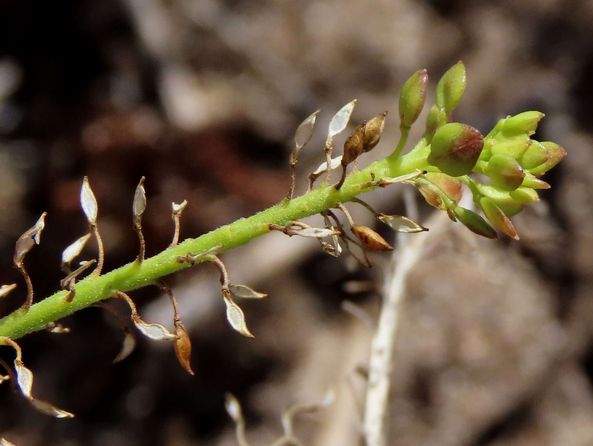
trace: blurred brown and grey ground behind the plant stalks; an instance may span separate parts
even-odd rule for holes
[[[390,110],[362,164],[390,153],[403,82],[427,68],[432,104],[436,81],[461,59],[468,84],[455,120],[485,134],[500,117],[540,110],[547,117],[535,137],[568,156],[546,175],[552,189],[542,202],[514,218],[521,241],[437,223],[401,305],[388,443],[591,445],[592,23],[593,2],[576,0],[2,0],[0,283],[18,288],[0,301],[0,315],[24,300],[14,243],[43,211],[42,244],[25,264],[37,300],[59,288],[61,252],[87,231],[83,176],[99,202],[110,270],[138,253],[131,203],[142,175],[154,255],[171,240],[171,202],[189,202],[186,238],[282,199],[294,131],[314,110],[321,114],[299,159],[297,193],[323,160],[331,116],[353,98],[351,127]],[[422,131],[419,123],[412,140]],[[365,199],[402,214],[405,187]],[[420,201],[422,222],[433,211]],[[350,208],[358,224],[374,225],[361,206]],[[94,257],[89,243],[82,258]],[[363,444],[365,382],[356,370],[366,367],[372,328],[342,302],[376,320],[390,257],[359,269],[314,240],[270,234],[221,258],[231,281],[270,294],[243,305],[254,340],[226,323],[216,269],[184,270],[167,283],[192,336],[195,376],[170,343],[141,338],[111,364],[123,335],[110,314],[88,308],[62,321],[68,334],[19,340],[34,394],[76,418],[37,413],[5,383],[0,436],[18,446],[230,446],[237,440],[224,394],[232,392],[259,446],[282,433],[283,410],[318,402],[331,387],[336,402],[299,416],[297,434],[311,446]],[[145,320],[172,326],[157,288],[132,298]],[[127,320],[129,309],[114,306]]]

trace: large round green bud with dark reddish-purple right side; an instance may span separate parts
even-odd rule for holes
[[[476,165],[483,146],[479,130],[458,122],[445,124],[432,138],[428,162],[452,177],[466,175]]]

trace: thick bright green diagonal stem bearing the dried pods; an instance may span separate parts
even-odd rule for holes
[[[400,151],[406,139],[407,132],[405,137],[402,135],[398,144]],[[200,254],[220,244],[224,247],[218,252],[227,251],[267,234],[270,231],[268,227],[270,223],[287,225],[293,220],[333,208],[336,203],[349,202],[356,195],[373,189],[369,187],[362,189],[360,186],[372,181],[371,173],[374,174],[375,179],[412,173],[418,165],[426,163],[420,158],[417,154],[399,158],[394,158],[392,155],[376,161],[364,170],[352,173],[339,190],[336,190],[333,185],[323,184],[295,199],[283,200],[259,214],[238,219],[198,238],[185,240],[154,257],[145,259],[142,263],[131,262],[101,276],[88,276],[76,283],[76,294],[72,302],[66,301],[68,291],[58,291],[32,305],[27,312],[22,309],[15,310],[0,319],[0,336],[17,339],[25,334],[43,330],[47,323],[109,298],[113,290],[127,292],[151,285],[162,276],[190,266],[187,262],[179,263],[177,261],[179,256],[187,256],[187,253]],[[207,259],[200,259],[197,263],[204,260]]]

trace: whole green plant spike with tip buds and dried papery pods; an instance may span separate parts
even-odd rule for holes
[[[235,300],[261,299],[267,295],[254,291],[247,285],[232,283],[219,254],[267,232],[281,231],[290,237],[298,235],[317,238],[325,253],[338,257],[346,250],[361,265],[371,266],[366,256],[367,250],[389,251],[393,248],[371,228],[355,224],[345,203],[355,202],[365,206],[375,218],[397,232],[428,230],[406,216],[385,215],[375,211],[359,199],[358,195],[378,187],[396,183],[410,184],[419,190],[426,202],[447,212],[452,221],[461,222],[476,234],[498,238],[499,230],[518,240],[517,231],[509,217],[520,212],[528,203],[539,200],[537,190],[550,187],[542,180],[543,174],[559,163],[566,154],[562,147],[553,142],[539,142],[531,138],[544,114],[539,111],[525,111],[500,119],[486,136],[469,125],[452,122],[451,113],[457,107],[466,87],[466,69],[463,63],[458,62],[438,82],[435,105],[428,112],[422,138],[410,152],[402,155],[410,128],[424,107],[427,85],[426,70],[415,72],[404,84],[398,104],[401,136],[397,147],[388,157],[365,168],[358,167],[361,155],[371,151],[380,141],[387,111],[357,125],[346,138],[343,154],[333,157],[334,138],[346,129],[356,104],[356,100],[353,100],[337,111],[330,120],[323,148],[326,160],[308,176],[307,193],[294,197],[298,157],[313,135],[320,113],[317,110],[301,123],[295,133],[294,149],[289,162],[291,186],[282,202],[259,214],[239,219],[182,243],[178,242],[180,218],[187,202],[173,203],[173,241],[167,249],[149,258],[145,258],[145,241],[142,235],[142,214],[146,208],[145,179],[142,177],[132,200],[133,227],[138,234],[139,254],[133,262],[111,272],[103,273],[102,270],[104,251],[97,224],[98,203],[90,181],[85,177],[80,202],[88,221],[89,232],[62,253],[62,270],[65,273],[65,278],[60,282],[62,291],[33,304],[33,284],[25,269],[24,260],[28,251],[40,243],[46,214],[43,213],[36,224],[18,238],[14,265],[24,277],[27,297],[21,308],[0,319],[0,345],[11,346],[16,352],[14,367],[0,362],[8,373],[6,376],[0,375],[0,383],[4,380],[14,382],[41,412],[58,418],[73,416],[72,413],[32,396],[33,374],[24,366],[21,349],[15,339],[42,329],[65,332],[68,329],[56,323],[56,320],[95,305],[110,311],[120,321],[124,341],[114,362],[121,361],[132,352],[135,337],[119,313],[103,302],[109,298],[120,298],[129,304],[132,322],[139,332],[151,339],[171,340],[180,364],[193,374],[190,366],[190,338],[181,321],[173,292],[162,277],[195,263],[212,262],[221,275],[221,294],[227,308],[229,324],[238,333],[253,337],[243,311]],[[348,173],[350,165],[352,168]],[[331,173],[339,167],[342,167],[340,179],[332,183]],[[471,177],[473,172],[483,174],[480,178],[487,177],[489,182],[483,183]],[[323,179],[320,186],[314,188],[315,181],[320,177]],[[471,193],[474,210],[458,204],[464,190]],[[476,209],[482,211],[486,219],[474,212]],[[340,221],[338,212],[346,216],[346,222]],[[323,217],[323,227],[311,227],[300,221],[315,214]],[[97,243],[97,259],[79,262],[78,267],[72,268],[71,263],[91,238]],[[94,266],[93,270],[82,278],[82,274],[91,266]],[[147,323],[139,316],[127,293],[147,285],[158,286],[170,298],[173,304],[174,332],[161,324]],[[3,285],[0,288],[0,297],[11,292],[15,286],[14,283]],[[229,396],[227,409],[238,423],[238,431],[244,429],[240,406],[232,396]],[[287,428],[285,431],[285,437],[291,437],[291,429]]]

